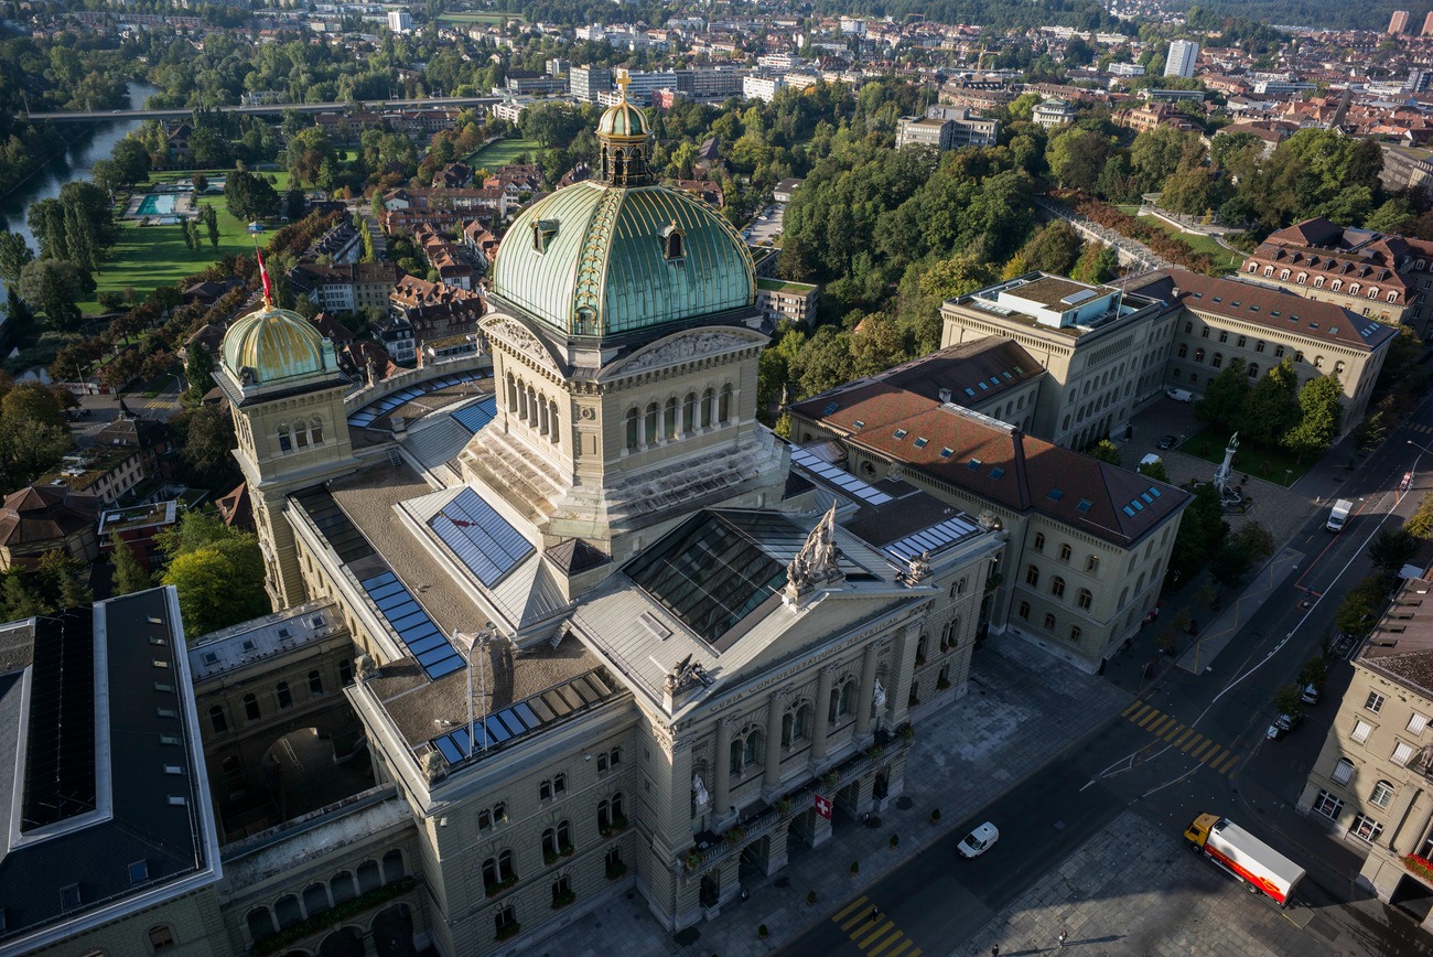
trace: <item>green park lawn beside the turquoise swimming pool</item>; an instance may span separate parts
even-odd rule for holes
[[[225,255],[252,252],[254,238],[248,232],[248,223],[229,215],[224,208],[224,196],[212,195],[205,202],[219,213],[218,249],[209,245],[208,229],[202,225],[199,238],[203,248],[191,252],[183,245],[179,226],[140,226],[133,221],[120,221],[119,241],[100,265],[100,272],[95,274],[96,297],[106,289],[123,292],[126,287],[143,297],[158,287],[202,272]],[[258,235],[261,246],[268,244],[268,235]],[[80,309],[86,314],[99,312],[99,302],[82,302]]]

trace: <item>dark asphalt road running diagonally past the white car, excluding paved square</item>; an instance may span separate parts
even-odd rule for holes
[[[913,941],[911,951],[950,953],[1089,835],[1132,808],[1169,834],[1182,832],[1197,814],[1227,814],[1308,870],[1295,894],[1304,924],[1315,915],[1333,921],[1369,953],[1433,953],[1427,934],[1406,915],[1389,907],[1380,913],[1376,903],[1370,908],[1367,894],[1354,888],[1361,857],[1328,841],[1317,822],[1293,809],[1351,666],[1331,666],[1323,701],[1291,735],[1277,742],[1264,736],[1274,718],[1274,692],[1321,653],[1323,640],[1336,630],[1333,619],[1343,595],[1370,572],[1369,540],[1381,527],[1396,527],[1393,516],[1412,514],[1422,493],[1433,487],[1429,476],[1427,481],[1414,480],[1401,499],[1396,491],[1416,454],[1407,440],[1433,443],[1417,428],[1430,421],[1433,414],[1424,404],[1377,453],[1347,473],[1338,497],[1354,499],[1358,509],[1344,532],[1324,530],[1328,503],[1311,511],[1290,542],[1307,556],[1301,567],[1202,675],[1168,668],[1122,715],[877,881],[866,894],[884,911],[881,921],[871,923],[873,937],[880,923],[890,921]],[[1000,828],[1000,841],[974,861],[960,858],[956,841],[984,819]],[[1244,894],[1244,888],[1230,880],[1225,893]],[[1360,900],[1361,908],[1348,904]],[[861,913],[866,907],[828,914],[781,953],[863,953],[860,934],[853,943],[851,923],[860,927],[867,920]]]

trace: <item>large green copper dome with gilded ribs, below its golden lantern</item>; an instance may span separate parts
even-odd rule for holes
[[[613,107],[616,109],[616,107]],[[567,335],[619,335],[752,305],[751,254],[702,201],[582,182],[523,211],[493,292]]]

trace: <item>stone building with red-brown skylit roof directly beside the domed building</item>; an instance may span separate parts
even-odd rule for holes
[[[1159,600],[1191,497],[1026,434],[1049,385],[1019,344],[989,337],[797,403],[791,436],[818,454],[830,443],[823,457],[853,476],[900,476],[1002,527],[982,626],[1095,670]]]

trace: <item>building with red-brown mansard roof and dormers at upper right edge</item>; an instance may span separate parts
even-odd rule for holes
[[[1350,229],[1321,216],[1271,232],[1241,275],[1358,315],[1407,324],[1427,338],[1433,242]],[[1427,298],[1427,297],[1422,297]]]

